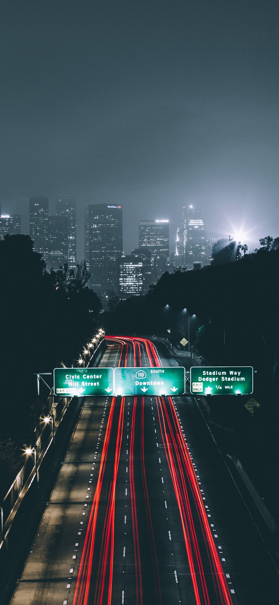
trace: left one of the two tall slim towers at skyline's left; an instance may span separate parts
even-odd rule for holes
[[[35,252],[48,258],[48,197],[30,197],[30,237]]]

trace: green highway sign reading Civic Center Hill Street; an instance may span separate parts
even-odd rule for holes
[[[60,397],[112,395],[114,368],[54,368],[54,394]]]

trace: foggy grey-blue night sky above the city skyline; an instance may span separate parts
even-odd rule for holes
[[[279,235],[278,0],[4,0],[2,212],[30,195],[123,204],[139,220],[202,210],[208,235]],[[173,247],[173,246],[172,246]]]

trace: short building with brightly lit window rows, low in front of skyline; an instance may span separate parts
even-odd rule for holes
[[[139,256],[118,258],[118,293],[120,296],[143,293],[143,261]]]

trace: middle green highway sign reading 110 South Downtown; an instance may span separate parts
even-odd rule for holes
[[[116,395],[182,395],[185,370],[181,367],[114,368]]]

